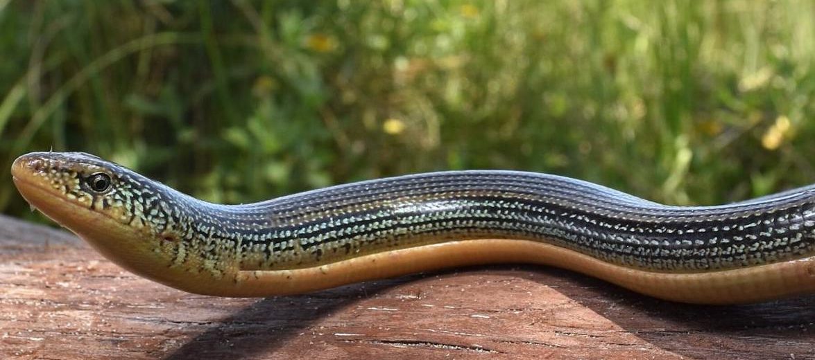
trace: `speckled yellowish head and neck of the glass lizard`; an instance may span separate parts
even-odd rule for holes
[[[203,267],[183,239],[192,197],[85,153],[25,154],[11,173],[32,206],[130,271],[170,284]]]

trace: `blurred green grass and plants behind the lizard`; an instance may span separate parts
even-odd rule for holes
[[[502,168],[659,202],[815,181],[815,2],[0,0],[0,166],[214,202]],[[7,171],[0,208],[29,216]]]

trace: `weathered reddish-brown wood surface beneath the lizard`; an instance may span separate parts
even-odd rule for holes
[[[143,280],[0,216],[0,358],[815,358],[815,297],[687,306],[547,267],[266,299]]]

